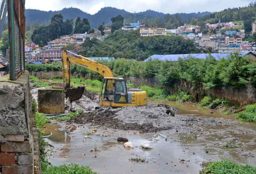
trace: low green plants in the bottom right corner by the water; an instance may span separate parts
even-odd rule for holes
[[[230,160],[208,163],[200,170],[200,174],[255,174],[256,168],[250,165],[240,165]]]

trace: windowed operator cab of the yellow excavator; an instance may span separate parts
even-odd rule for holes
[[[128,103],[128,91],[125,79],[104,78],[100,100],[104,102]]]

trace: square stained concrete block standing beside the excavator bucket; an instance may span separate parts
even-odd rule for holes
[[[37,93],[38,112],[45,114],[60,114],[65,112],[64,89],[39,89]]]

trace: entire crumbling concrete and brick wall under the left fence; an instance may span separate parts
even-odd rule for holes
[[[0,171],[2,174],[33,174],[34,165],[40,169],[40,160],[29,73],[21,74],[16,81],[8,79],[8,75],[0,78]]]

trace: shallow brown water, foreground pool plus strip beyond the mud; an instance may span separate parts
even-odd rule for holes
[[[196,105],[153,100],[177,108],[177,114],[194,117],[219,117],[234,120],[212,109],[202,109]],[[211,114],[211,112],[213,112]],[[204,128],[204,133],[194,135],[178,133],[176,130],[161,131],[167,140],[156,133],[139,134],[136,131],[123,131],[97,127],[97,132],[88,134],[92,126],[80,125],[74,132],[65,132],[57,124],[50,124],[45,134],[53,133],[48,139],[54,145],[53,156],[49,161],[53,165],[77,163],[90,166],[98,173],[181,173],[199,174],[202,161],[230,159],[241,164],[256,166],[256,124],[236,121],[232,127],[219,126]],[[84,139],[84,135],[88,137]],[[128,150],[117,137],[126,137],[134,149]],[[241,148],[227,148],[224,144],[232,142]],[[139,146],[149,144],[153,149],[143,150]],[[95,151],[97,149],[97,151]],[[133,162],[130,158],[141,157],[146,162]],[[183,161],[184,160],[184,161]]]

